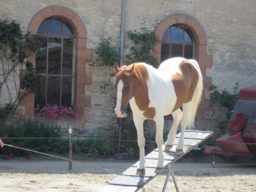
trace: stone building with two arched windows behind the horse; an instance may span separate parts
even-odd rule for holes
[[[153,29],[154,24],[157,26],[156,35],[161,42],[155,45],[152,56],[159,63],[170,56],[198,60],[204,78],[204,92],[196,126],[201,130],[210,130],[215,125],[209,116],[211,106],[208,88],[214,84],[219,90],[226,88],[232,92],[237,81],[239,89],[255,85],[255,10],[255,0],[126,0],[124,54],[129,53],[132,46],[127,32],[140,30],[145,20],[148,28]],[[0,2],[1,20],[16,20],[24,32],[29,31],[45,38],[46,47],[62,50],[63,60],[69,62],[66,72],[63,71],[64,76],[55,76],[55,79],[54,76],[48,76],[48,84],[43,83],[47,85],[44,90],[59,96],[60,93],[52,90],[56,89],[56,84],[59,84],[57,87],[61,86],[60,79],[66,78],[62,88],[63,100],[68,100],[67,105],[74,104],[78,115],[82,117],[77,125],[78,135],[117,134],[114,93],[100,95],[100,85],[108,78],[109,68],[95,66],[92,61],[100,37],[111,37],[113,45],[120,47],[121,14],[122,0]],[[51,29],[51,23],[56,25],[56,29]],[[179,34],[184,35],[179,37]],[[53,60],[58,57],[50,54],[50,49],[44,50]],[[45,81],[51,73],[45,72],[45,56],[46,52],[42,56],[32,55],[28,58],[36,73],[41,74],[41,81]],[[47,65],[50,68],[50,62]],[[60,68],[53,70],[52,74],[60,74]],[[66,86],[71,90],[65,90]],[[18,107],[18,115],[34,116],[34,106],[40,102],[40,98],[34,93],[26,96]],[[42,103],[46,100],[44,98]],[[4,98],[0,102],[3,106]],[[53,102],[59,102],[59,99]]]

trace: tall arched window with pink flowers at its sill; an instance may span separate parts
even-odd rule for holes
[[[75,34],[63,18],[46,18],[40,24],[37,36],[42,42],[36,54],[38,89],[35,105],[74,105]]]

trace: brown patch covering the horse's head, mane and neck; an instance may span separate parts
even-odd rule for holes
[[[134,69],[131,70],[133,67]],[[122,106],[126,106],[129,100],[134,97],[141,111],[148,109],[150,103],[147,85],[148,70],[143,64],[134,63],[129,66],[122,66],[119,68],[119,72],[115,75],[115,78],[114,88],[116,88],[119,80],[122,80],[124,84],[122,90]]]

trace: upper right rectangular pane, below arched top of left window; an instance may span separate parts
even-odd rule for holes
[[[62,58],[62,74],[73,74],[73,50],[74,39],[63,39],[63,58]]]

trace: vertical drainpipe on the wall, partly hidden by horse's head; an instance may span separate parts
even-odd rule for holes
[[[124,56],[124,15],[125,15],[125,0],[122,0],[122,20],[121,20],[121,39],[120,39],[120,67],[123,65]],[[120,153],[120,144],[122,138],[122,118],[119,118],[118,124],[118,140],[117,153]]]

